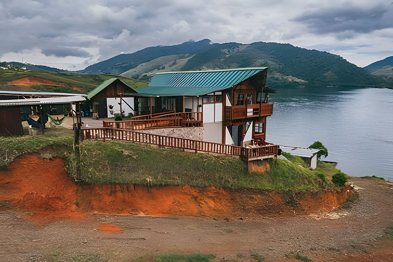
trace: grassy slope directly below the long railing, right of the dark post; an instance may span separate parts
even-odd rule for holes
[[[228,189],[309,191],[320,189],[310,169],[278,159],[266,173],[247,173],[237,157],[193,154],[178,149],[121,141],[84,141],[81,146],[82,180],[92,184],[190,185]],[[72,156],[71,156],[72,157]],[[75,161],[67,171],[76,178]],[[330,185],[326,183],[325,185]]]

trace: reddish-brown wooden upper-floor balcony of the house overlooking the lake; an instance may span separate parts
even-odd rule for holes
[[[231,108],[231,119],[245,119],[273,114],[273,103],[261,103],[250,105],[234,105]]]

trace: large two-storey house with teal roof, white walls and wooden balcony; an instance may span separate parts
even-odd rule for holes
[[[135,96],[136,115],[200,112],[203,141],[265,144],[273,113],[264,93],[267,67],[157,73]]]

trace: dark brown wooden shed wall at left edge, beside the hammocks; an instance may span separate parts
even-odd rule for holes
[[[0,136],[23,134],[19,107],[0,107]]]

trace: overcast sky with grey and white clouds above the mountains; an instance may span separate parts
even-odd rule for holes
[[[366,66],[393,55],[392,0],[0,0],[0,61],[77,70],[190,39],[290,43]]]

